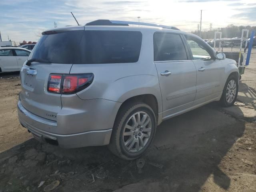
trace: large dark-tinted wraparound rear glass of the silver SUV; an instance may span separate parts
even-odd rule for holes
[[[63,64],[137,62],[142,34],[137,31],[78,30],[44,34],[30,58]]]

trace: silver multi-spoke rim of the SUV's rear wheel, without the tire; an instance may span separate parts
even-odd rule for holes
[[[148,143],[151,132],[152,121],[150,116],[143,111],[134,113],[124,126],[124,148],[133,153],[142,150]]]

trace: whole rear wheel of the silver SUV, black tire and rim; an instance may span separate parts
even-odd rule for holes
[[[156,116],[152,108],[142,102],[129,102],[116,116],[108,148],[122,159],[136,159],[148,149],[155,132]]]

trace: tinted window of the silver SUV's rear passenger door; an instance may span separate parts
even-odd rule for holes
[[[154,34],[154,61],[188,60],[180,35]]]

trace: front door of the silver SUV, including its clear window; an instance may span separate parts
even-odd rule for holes
[[[196,66],[196,99],[194,105],[216,99],[222,94],[225,67],[216,60],[214,50],[199,38],[184,36],[191,58]]]

